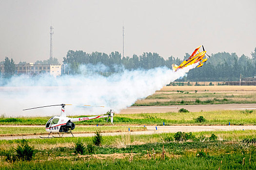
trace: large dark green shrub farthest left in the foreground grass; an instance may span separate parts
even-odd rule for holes
[[[28,145],[27,140],[22,139],[20,145],[15,151],[17,153],[17,159],[30,161],[34,155],[35,150]]]

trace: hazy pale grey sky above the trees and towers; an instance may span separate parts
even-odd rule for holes
[[[0,0],[0,61],[46,60],[68,50],[157,52],[165,59],[192,53],[256,48],[256,0]]]

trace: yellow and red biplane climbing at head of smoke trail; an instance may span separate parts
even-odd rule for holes
[[[203,49],[202,52],[199,51],[201,47]],[[203,59],[205,54],[206,54],[206,51],[204,50],[203,45],[200,45],[199,47],[196,48],[196,50],[191,54],[191,56],[187,60],[183,61],[179,66],[173,64],[172,68],[174,71],[177,71],[180,68],[185,68],[197,62],[199,62],[199,65],[197,66],[197,68],[202,67],[203,63],[207,61],[207,58]],[[208,55],[208,57],[210,56]]]

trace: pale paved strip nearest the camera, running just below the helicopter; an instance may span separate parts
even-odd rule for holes
[[[127,126],[127,128],[128,127],[129,126]],[[127,134],[152,135],[152,134],[176,133],[176,132],[256,130],[256,126],[146,126],[146,127],[147,127],[147,131],[102,133],[102,136],[118,136],[118,135],[127,135]],[[47,137],[48,135],[1,136],[0,140],[14,140],[14,139],[23,139],[23,138],[31,139],[31,138],[39,138],[39,136]],[[52,136],[58,136],[58,135],[51,135],[51,137]],[[72,136],[71,134],[64,135],[64,137],[71,137],[71,136]],[[75,137],[94,136],[94,133],[74,134],[74,136]]]

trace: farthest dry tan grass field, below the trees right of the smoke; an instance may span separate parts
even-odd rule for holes
[[[256,103],[256,86],[164,86],[133,105]]]

